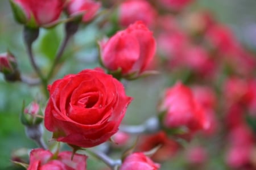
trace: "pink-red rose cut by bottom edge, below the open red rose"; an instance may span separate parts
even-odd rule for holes
[[[30,165],[28,170],[86,170],[87,156],[75,154],[71,160],[72,152],[60,152],[57,156],[42,148],[34,149],[30,152]]]

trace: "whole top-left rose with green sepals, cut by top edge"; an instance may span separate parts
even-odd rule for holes
[[[63,11],[63,0],[11,0],[15,19],[27,27],[55,25]]]

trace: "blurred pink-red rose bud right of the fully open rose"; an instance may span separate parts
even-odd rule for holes
[[[209,128],[209,121],[192,91],[181,83],[166,90],[159,112],[165,128],[178,128],[179,133],[193,133]]]

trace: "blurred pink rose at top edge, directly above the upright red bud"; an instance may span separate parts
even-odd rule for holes
[[[152,27],[156,19],[156,11],[148,1],[131,0],[123,2],[119,7],[119,23],[123,27],[141,20],[148,27]]]

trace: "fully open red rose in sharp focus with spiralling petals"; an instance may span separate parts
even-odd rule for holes
[[[80,147],[93,147],[118,131],[131,97],[111,75],[83,70],[49,86],[44,124],[53,138]]]

